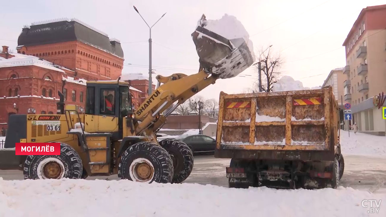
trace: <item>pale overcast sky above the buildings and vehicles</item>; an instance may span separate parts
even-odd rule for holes
[[[14,49],[25,24],[74,17],[122,42],[123,73],[147,76],[149,28],[133,9],[135,5],[149,25],[167,13],[152,28],[152,66],[156,74],[190,75],[198,70],[191,39],[197,20],[202,14],[207,19],[229,14],[249,32],[255,52],[273,45],[273,51],[283,56],[283,75],[302,81],[304,86],[320,86],[332,69],[345,65],[342,44],[361,9],[382,4],[386,0],[2,1],[0,45]],[[220,91],[240,93],[257,78],[253,66],[242,74],[252,76],[220,79],[198,94],[218,99]]]

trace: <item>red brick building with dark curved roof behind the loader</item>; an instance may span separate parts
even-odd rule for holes
[[[117,39],[74,19],[24,27],[16,49],[0,52],[0,129],[11,114],[55,114],[58,91],[67,105],[84,108],[86,81],[116,80],[124,62]],[[130,82],[134,107],[147,97],[142,83]]]

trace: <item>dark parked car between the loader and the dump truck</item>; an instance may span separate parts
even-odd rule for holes
[[[205,135],[191,135],[181,139],[185,142],[193,151],[193,153],[214,152],[216,146],[216,140],[212,137]]]

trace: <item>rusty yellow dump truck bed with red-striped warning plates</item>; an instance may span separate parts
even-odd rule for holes
[[[332,88],[220,93],[215,157],[334,158],[339,108]],[[320,156],[322,155],[322,156]]]

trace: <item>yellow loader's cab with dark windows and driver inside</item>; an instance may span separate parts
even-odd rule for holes
[[[112,140],[122,139],[123,117],[132,114],[129,83],[88,81],[86,90],[85,131],[109,132]]]

